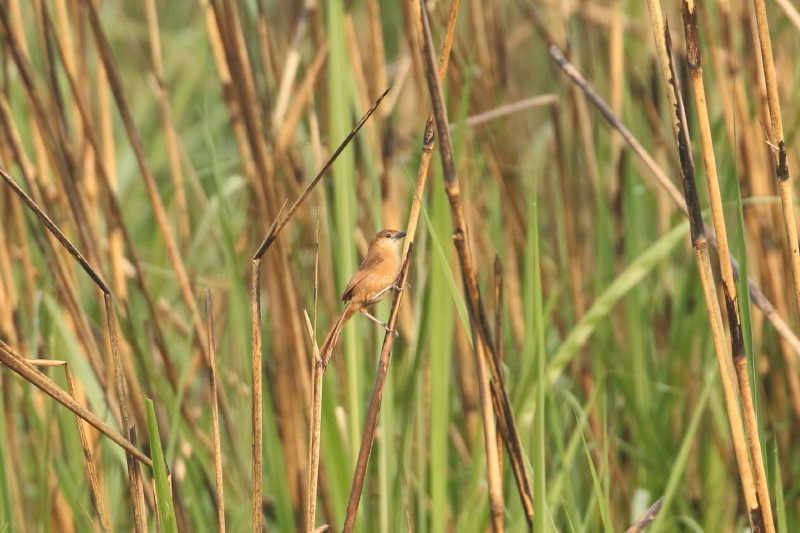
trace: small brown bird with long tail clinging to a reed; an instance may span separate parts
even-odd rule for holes
[[[397,276],[402,266],[400,239],[405,236],[405,231],[384,229],[376,233],[369,243],[364,261],[350,279],[342,295],[342,301],[346,302],[344,310],[320,348],[320,357],[323,361],[327,362],[330,359],[342,327],[356,311],[380,324],[386,331],[391,331],[388,324],[369,314],[367,307],[381,301],[391,289],[402,290],[397,286]],[[397,334],[396,331],[393,333]]]

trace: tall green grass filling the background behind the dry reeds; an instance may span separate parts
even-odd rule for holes
[[[45,3],[55,10],[57,2]],[[168,177],[158,102],[143,52],[147,48],[144,14],[136,2],[101,4],[102,22],[113,39],[126,94],[146,140],[148,161],[170,215],[175,217],[177,206]],[[447,9],[445,3],[440,4],[433,8],[431,18],[436,39]],[[276,65],[273,69],[260,55],[256,5],[243,2],[239,9],[245,28],[243,38],[263,105],[260,118],[268,124],[270,105],[277,96],[276,74],[284,67],[300,6],[265,2],[269,51]],[[746,14],[745,3],[734,1],[732,5],[735,13]],[[289,290],[295,291],[313,319],[313,235],[320,217],[323,242],[316,310],[318,340],[324,338],[342,309],[339,296],[359,265],[363,244],[383,227],[385,220],[406,220],[411,204],[412,177],[420,157],[428,102],[419,98],[427,95],[427,89],[413,62],[416,51],[409,48],[401,7],[380,5],[387,71],[395,87],[390,101],[383,104],[385,111],[381,108],[370,123],[378,146],[368,142],[362,131],[336,161],[320,190],[309,197],[279,237],[289,256],[293,280]],[[622,91],[622,120],[667,173],[676,175],[674,154],[664,141],[669,131],[665,103],[650,89],[654,56],[648,28],[643,25],[646,13],[630,0],[608,5],[587,3],[585,7],[586,10],[573,10],[570,6],[556,9],[547,3],[534,5],[558,39],[571,40],[572,59],[599,92],[605,95]],[[73,13],[71,4],[67,9],[71,16],[83,16]],[[249,501],[251,439],[248,276],[254,248],[272,220],[259,211],[252,179],[246,175],[245,162],[238,155],[210,48],[205,12],[197,5],[163,4],[158,9],[166,84],[187,170],[190,205],[186,215],[192,232],[191,240],[183,243],[183,259],[195,292],[203,294],[210,289],[217,302],[220,391],[227,399],[232,419],[232,427],[226,429],[223,423],[222,430],[226,521],[230,531],[246,531],[250,527],[250,510],[242,502]],[[606,19],[614,15],[613,9],[625,17],[625,83],[621,88],[610,87],[604,72],[609,60]],[[797,29],[777,7],[771,9],[776,59],[779,65],[791,65],[800,53]],[[290,200],[316,173],[316,147],[322,147],[324,160],[365,110],[354,72],[356,62],[348,47],[348,17],[362,54],[359,64],[367,65],[363,74],[368,79],[374,75],[369,71],[372,51],[365,6],[343,0],[320,3],[299,45],[297,85],[323,41],[329,46],[327,66],[315,81],[313,99],[304,108],[286,153],[274,153],[272,139],[263,140],[275,164],[275,190]],[[585,127],[596,157],[587,159],[580,137],[583,126],[579,124],[568,81],[550,66],[547,49],[523,10],[511,2],[465,3],[459,17],[445,94],[450,116],[457,117],[453,137],[456,165],[483,299],[491,312],[495,255],[502,262],[503,371],[533,481],[534,529],[621,531],[664,496],[652,531],[742,530],[747,517],[719,377],[714,373],[708,317],[688,246],[687,224],[667,204],[662,192],[645,184],[649,183],[645,181],[648,171],[634,154],[623,150],[617,165],[611,148],[612,133],[591,109],[590,123]],[[31,47],[37,83],[54,99],[56,95],[47,85],[48,67],[36,16],[26,11],[23,20],[22,30]],[[710,17],[708,22],[712,30],[721,31],[718,20]],[[493,79],[489,78],[488,65],[480,64],[481,55],[474,49],[476,28],[482,28],[489,42],[494,43],[487,51],[499,73]],[[745,45],[750,37],[738,26],[731,31],[735,32],[735,52],[750,66],[753,52]],[[73,37],[77,37],[75,33]],[[412,37],[415,43],[416,36]],[[91,74],[87,76],[86,91],[94,97],[96,84],[91,80],[97,62],[92,41],[86,39],[84,55],[89,58],[86,68]],[[69,103],[71,95],[61,79],[63,67],[55,68],[54,79],[63,84],[59,85],[61,97]],[[789,70],[784,68],[781,72]],[[10,102],[26,156],[37,170],[39,181],[34,186],[51,195],[52,201],[43,208],[77,242],[78,233],[58,185],[66,177],[55,175],[49,166],[40,167],[30,109],[19,75],[12,66],[5,66],[3,71],[3,95]],[[708,72],[710,89],[727,90],[725,83],[711,77],[710,67]],[[791,81],[782,82],[787,119],[798,110]],[[745,88],[747,111],[751,113],[747,118],[757,124],[761,116],[757,86],[748,78]],[[559,99],[557,120],[564,132],[564,164],[570,180],[567,190],[571,193],[567,200],[575,217],[577,250],[567,249],[566,245],[553,116],[530,109],[475,127],[464,122],[468,116],[543,93],[554,93]],[[713,94],[711,90],[709,94]],[[293,95],[299,98],[296,93]],[[731,145],[726,136],[722,103],[710,104],[718,159],[739,161],[740,148]],[[97,109],[94,112],[99,113]],[[383,112],[388,115],[383,116]],[[85,139],[80,137],[74,120],[70,119],[67,126],[74,153],[82,153],[76,147],[83,146]],[[155,433],[151,435],[148,445],[145,427],[137,427],[139,445],[148,455],[156,455],[158,446],[154,445],[164,445],[163,459],[172,475],[172,492],[164,492],[169,489],[163,478],[165,473],[157,470],[155,494],[159,502],[174,503],[175,528],[204,531],[216,524],[217,512],[213,458],[205,439],[199,437],[207,438],[211,431],[208,377],[205,366],[199,363],[204,359],[193,340],[191,317],[181,301],[175,274],[116,114],[114,134],[114,168],[119,177],[123,223],[132,235],[146,283],[159,308],[158,316],[150,316],[141,292],[132,279],[127,280],[130,296],[120,302],[125,314],[120,317],[121,333],[133,372],[144,392],[152,397],[151,430],[158,429],[161,435],[160,439]],[[749,130],[748,135],[752,135]],[[797,168],[796,155],[790,157],[792,168]],[[400,313],[400,336],[394,344],[380,425],[359,507],[357,530],[362,532],[478,533],[490,528],[469,317],[438,156],[433,161],[411,260],[411,286],[406,289]],[[378,175],[379,163],[385,166],[384,179]],[[0,164],[13,176],[21,176],[22,167],[3,134]],[[84,174],[92,164],[93,161],[82,161]],[[762,260],[762,248],[753,242],[753,229],[748,227],[752,219],[748,215],[757,213],[765,227],[774,230],[769,238],[779,246],[783,242],[782,230],[779,225],[773,228],[773,203],[750,202],[749,182],[741,190],[738,188],[737,178],[746,180],[746,169],[732,163],[725,165],[723,172],[728,172],[728,179],[723,187],[728,191],[725,200],[732,206],[729,227],[737,232],[731,242],[741,266],[740,307],[752,362],[751,381],[757,389],[756,405],[762,417],[773,507],[779,531],[795,531],[800,528],[800,455],[794,445],[798,432],[791,391],[781,376],[788,368],[779,355],[776,334],[762,320],[761,313],[752,309],[743,281],[749,274],[759,285],[766,286],[768,276],[781,275],[789,286],[788,270],[773,272]],[[597,169],[596,184],[588,179],[590,166]],[[86,193],[86,183],[81,181],[86,179],[84,174],[76,179]],[[45,181],[47,176],[53,181]],[[618,196],[610,192],[616,190],[612,183],[619,187]],[[277,198],[276,203],[282,204],[285,198]],[[3,189],[0,210],[9,214],[9,220],[13,210],[20,209],[15,207],[17,203],[17,198]],[[95,207],[92,216],[100,221],[97,231],[103,264],[98,267],[110,273],[107,242],[112,222],[108,207],[102,194],[91,205]],[[10,277],[4,277],[5,271],[0,270],[0,281],[3,295],[13,287],[21,303],[12,308],[8,298],[9,312],[3,315],[0,338],[10,339],[6,329],[10,324],[20,351],[27,356],[68,361],[82,389],[83,403],[116,427],[117,404],[109,398],[113,394],[103,388],[109,376],[98,375],[88,362],[85,339],[75,328],[65,288],[48,262],[51,252],[39,245],[45,242],[45,231],[34,217],[17,220],[24,223],[20,226],[9,222],[0,230],[4,242],[9,243],[0,243],[4,247],[0,253],[9,252],[13,258]],[[177,224],[175,218],[171,222]],[[271,249],[268,253],[277,252]],[[23,256],[33,265],[33,294],[24,292],[25,276],[31,273],[25,271]],[[580,318],[570,296],[571,262],[580,264],[583,276],[586,309]],[[103,351],[104,315],[97,291],[79,268],[72,264],[70,268],[81,312]],[[276,273],[263,272],[265,278],[273,275]],[[271,325],[274,322],[266,319],[280,316],[281,302],[265,289],[262,304],[266,524],[270,531],[298,531],[303,523],[304,498],[296,501],[291,488],[296,482],[304,487],[306,477],[302,469],[291,471],[286,458],[303,442],[308,445],[304,441],[307,427],[301,427],[299,436],[292,433],[287,428],[293,426],[279,413],[278,404],[291,402],[297,420],[305,424],[310,402],[300,387],[290,398],[277,396],[281,390],[278,383],[295,384],[300,375],[297,368],[276,363],[289,359],[280,359],[279,355],[285,354],[278,354],[278,350],[296,347],[285,342],[285,331],[276,330]],[[387,317],[388,304],[375,308],[375,313]],[[795,315],[791,311],[784,317],[794,329]],[[285,321],[300,319],[286,317]],[[172,389],[156,355],[154,322],[163,328],[169,356],[178,369],[177,390]],[[302,333],[303,342],[307,343],[304,329]],[[382,336],[375,324],[361,316],[354,317],[345,327],[326,374],[318,525],[330,523],[341,528],[344,522]],[[55,371],[47,372],[55,378]],[[0,383],[0,532],[58,531],[61,526],[83,531],[95,527],[74,418],[5,368],[0,368]],[[131,529],[124,456],[104,438],[95,447],[113,527]],[[507,531],[524,532],[528,526],[508,455],[504,448],[502,451]],[[145,473],[149,484],[153,473]],[[149,509],[148,520],[151,531],[155,531],[154,509]],[[162,515],[160,521],[162,530],[169,530],[164,524],[171,524],[171,519]]]

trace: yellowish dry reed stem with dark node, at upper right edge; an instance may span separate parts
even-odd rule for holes
[[[794,213],[794,195],[792,179],[786,165],[786,143],[783,137],[783,119],[781,118],[778,84],[775,80],[775,64],[772,60],[772,40],[769,36],[769,21],[764,0],[753,0],[758,25],[758,40],[761,46],[761,63],[764,69],[764,81],[767,85],[767,104],[769,107],[770,143],[775,158],[775,172],[780,189],[781,207],[783,208],[783,224],[789,245],[792,265],[792,281],[794,282],[795,304],[800,312],[800,246],[797,242],[797,222]],[[761,495],[759,491],[759,495]],[[769,525],[768,525],[769,527]]]

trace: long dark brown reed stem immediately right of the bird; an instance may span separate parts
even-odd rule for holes
[[[473,342],[482,343],[486,354],[489,369],[492,375],[492,394],[494,405],[498,409],[497,417],[500,421],[500,430],[509,451],[512,470],[515,481],[517,482],[520,499],[522,500],[525,516],[528,524],[532,527],[533,522],[533,493],[530,479],[525,465],[522,445],[516,429],[514,413],[511,409],[511,401],[508,391],[505,388],[503,376],[499,370],[497,352],[492,343],[492,334],[486,311],[481,301],[480,290],[475,265],[472,258],[467,222],[461,202],[461,190],[458,175],[455,169],[455,158],[453,155],[452,144],[450,143],[450,131],[448,128],[447,110],[444,106],[442,85],[435,73],[435,60],[433,57],[433,46],[430,25],[425,7],[421,9],[422,26],[424,30],[424,51],[423,59],[425,66],[425,77],[428,82],[431,102],[436,119],[436,129],[441,137],[440,155],[444,174],[445,192],[450,202],[450,213],[454,228],[453,241],[461,263],[462,280],[464,290],[467,294],[467,303],[472,317],[472,322],[477,325]],[[475,352],[478,356],[478,352]],[[485,429],[485,428],[484,428]],[[496,480],[496,483],[502,483]],[[490,486],[492,481],[490,480]]]

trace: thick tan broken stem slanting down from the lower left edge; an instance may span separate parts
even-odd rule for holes
[[[0,363],[22,376],[26,381],[42,390],[55,401],[94,426],[97,431],[114,441],[127,453],[136,457],[145,465],[152,467],[153,462],[149,457],[140,452],[125,437],[114,431],[93,412],[79,404],[72,396],[65,392],[56,382],[48,378],[39,370],[31,366],[27,360],[16,353],[9,345],[0,340]]]

